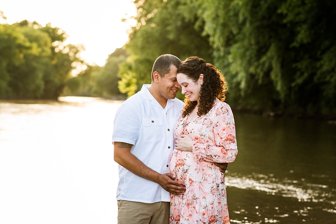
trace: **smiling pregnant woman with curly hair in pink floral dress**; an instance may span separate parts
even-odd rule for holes
[[[170,223],[230,223],[224,174],[214,165],[232,163],[238,153],[234,117],[223,102],[227,83],[199,57],[181,62],[177,82],[185,105],[175,127],[170,172],[186,191],[171,194]]]

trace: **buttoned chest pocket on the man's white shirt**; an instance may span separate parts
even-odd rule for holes
[[[163,138],[163,125],[159,117],[142,118],[143,136],[146,142],[157,142]]]

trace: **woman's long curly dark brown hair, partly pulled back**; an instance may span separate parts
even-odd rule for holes
[[[227,82],[221,72],[212,64],[205,63],[202,58],[193,56],[182,61],[177,69],[177,73],[186,75],[195,83],[203,74],[203,84],[200,91],[200,104],[197,115],[205,115],[212,108],[214,100],[218,98],[224,101],[226,98]],[[184,107],[182,117],[190,114],[197,105],[197,101],[190,101],[189,97],[184,97]]]

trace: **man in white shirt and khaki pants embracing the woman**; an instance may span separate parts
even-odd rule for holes
[[[118,224],[168,224],[170,193],[185,191],[184,183],[167,173],[174,127],[183,107],[175,98],[181,88],[176,81],[180,62],[171,54],[159,56],[152,83],[117,110],[112,142],[119,164]]]

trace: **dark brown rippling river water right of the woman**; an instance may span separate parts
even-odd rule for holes
[[[237,113],[235,121],[239,152],[225,179],[232,223],[335,223],[336,126]]]

